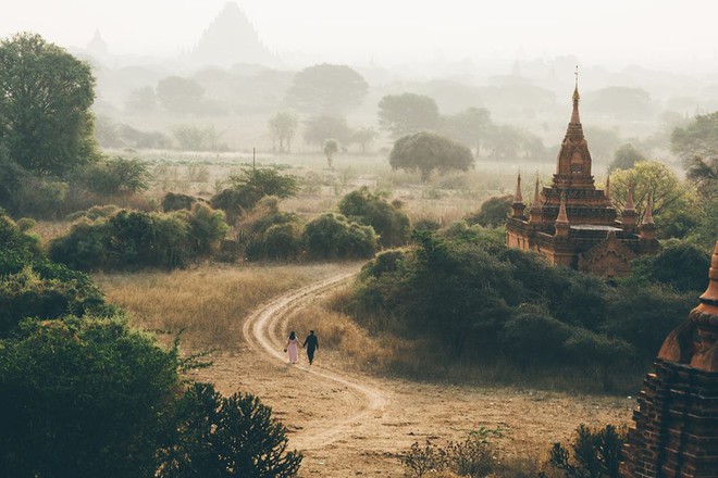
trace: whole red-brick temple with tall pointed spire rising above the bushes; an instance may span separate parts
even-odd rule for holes
[[[620,221],[606,190],[596,189],[591,174],[591,152],[579,116],[579,88],[573,91],[573,111],[556,159],[550,187],[538,190],[528,211],[521,196],[521,176],[506,223],[506,244],[536,251],[552,264],[604,277],[626,275],[630,261],[658,252],[656,226],[648,198],[641,224],[632,192]]]

